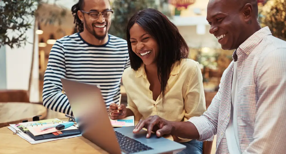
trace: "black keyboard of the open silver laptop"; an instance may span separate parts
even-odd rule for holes
[[[136,153],[146,150],[152,150],[152,148],[144,145],[143,143],[136,141],[135,139],[132,139],[130,137],[127,137],[123,135],[122,133],[119,133],[118,131],[115,131],[118,143],[120,145],[120,149],[124,153]]]

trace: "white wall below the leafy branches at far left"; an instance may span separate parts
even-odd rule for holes
[[[30,18],[30,21],[33,21]],[[15,35],[12,31],[8,32],[8,36],[11,37]],[[33,52],[33,40],[34,40],[34,28],[26,31],[28,37],[25,46],[20,48],[10,48],[6,45],[6,89],[21,89],[28,90],[29,88],[29,75],[31,70],[31,60]],[[37,41],[37,36],[36,36]],[[31,42],[31,43],[29,43]],[[35,60],[32,78],[32,88],[30,91],[30,101],[38,102],[39,92],[38,92],[38,49],[37,44],[35,45]]]

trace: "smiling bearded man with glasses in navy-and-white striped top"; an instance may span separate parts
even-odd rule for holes
[[[130,66],[126,40],[108,34],[113,14],[109,0],[79,0],[72,14],[79,33],[53,45],[43,86],[43,105],[70,116],[60,78],[100,85],[109,108],[119,102],[122,73]]]

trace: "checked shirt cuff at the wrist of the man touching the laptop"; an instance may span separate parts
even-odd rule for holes
[[[198,133],[200,135],[199,141],[212,141],[213,135],[209,133],[212,130],[212,127],[208,127],[208,119],[206,117],[200,116],[200,117],[191,117],[188,121],[193,123],[198,130]]]

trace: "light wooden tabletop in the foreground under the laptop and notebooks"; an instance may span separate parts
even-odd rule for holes
[[[68,121],[68,118],[59,118]],[[137,124],[137,122],[135,122]],[[172,136],[166,137],[172,140]],[[112,145],[110,145],[112,146]],[[1,154],[43,154],[43,153],[76,153],[76,154],[97,154],[107,153],[84,137],[60,139],[39,144],[30,144],[7,128],[0,128],[0,153]]]

